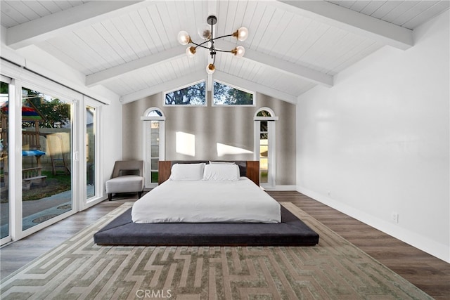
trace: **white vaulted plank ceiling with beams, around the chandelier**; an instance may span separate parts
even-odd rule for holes
[[[122,103],[186,86],[224,81],[296,103],[316,85],[383,46],[406,51],[413,30],[449,9],[445,1],[0,1],[4,44],[18,53],[44,53],[72,68],[86,87],[103,86]],[[248,28],[245,56],[217,53],[208,78],[208,52],[194,58],[177,42],[216,15],[217,36]],[[3,46],[3,45],[2,45]],[[28,49],[28,51],[27,51]],[[204,50],[204,51],[203,51]],[[39,60],[39,56],[32,59]],[[210,86],[210,84],[209,84]]]

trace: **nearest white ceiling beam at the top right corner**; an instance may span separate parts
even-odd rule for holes
[[[271,4],[402,50],[414,45],[412,30],[326,1],[271,1]]]

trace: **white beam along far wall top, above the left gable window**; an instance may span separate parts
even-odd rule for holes
[[[198,71],[193,74],[188,74],[184,77],[179,77],[173,80],[165,81],[163,84],[158,84],[156,86],[151,86],[148,89],[143,89],[141,91],[136,91],[134,93],[129,93],[127,95],[120,97],[120,102],[122,104],[130,103],[148,96],[155,95],[156,93],[161,93],[165,91],[170,91],[176,87],[186,86],[186,84],[194,83],[200,80],[206,80],[207,73],[205,70]]]

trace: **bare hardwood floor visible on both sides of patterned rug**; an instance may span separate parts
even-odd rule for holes
[[[450,264],[297,192],[269,192],[279,202],[293,202],[356,247],[394,270],[435,299],[450,299]],[[1,278],[56,247],[79,230],[136,196],[115,198],[81,211],[53,226],[0,249]]]

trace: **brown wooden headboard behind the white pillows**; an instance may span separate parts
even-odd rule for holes
[[[194,164],[199,162],[209,163],[207,160],[160,160],[158,184],[161,184],[170,177],[173,164]],[[239,166],[240,176],[246,176],[259,186],[259,162],[257,160],[226,161],[235,162]]]

